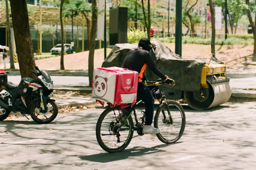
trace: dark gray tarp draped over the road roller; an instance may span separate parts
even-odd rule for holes
[[[176,86],[173,89],[182,91],[200,90],[203,63],[209,63],[210,55],[206,56],[209,57],[207,59],[180,57],[160,41],[151,42],[155,44],[155,53],[153,50],[150,51],[153,60],[164,74],[175,80]],[[126,54],[136,47],[132,44],[116,44],[102,63],[102,67],[122,67]],[[211,63],[221,62],[213,58]],[[145,75],[149,81],[155,81],[159,78],[149,68],[145,70]]]

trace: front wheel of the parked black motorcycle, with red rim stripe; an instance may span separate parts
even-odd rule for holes
[[[47,124],[53,121],[58,115],[58,106],[56,103],[47,99],[46,111],[43,112],[41,108],[41,100],[34,101],[30,107],[30,116],[38,124]]]

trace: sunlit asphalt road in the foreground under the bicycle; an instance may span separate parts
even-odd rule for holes
[[[183,108],[186,128],[177,143],[164,145],[156,135],[144,135],[115,154],[96,140],[103,109],[59,114],[47,125],[26,118],[3,121],[0,169],[255,169],[255,103]]]

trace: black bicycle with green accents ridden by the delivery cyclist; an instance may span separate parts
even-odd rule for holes
[[[164,84],[164,81],[160,79],[157,81],[147,83],[147,86],[153,87],[152,93],[159,90],[162,94],[160,94],[160,98],[158,97],[159,99],[156,99],[160,105],[155,113],[154,127],[161,129],[160,133],[156,135],[163,143],[175,143],[181,138],[185,129],[185,112],[176,101],[167,102],[165,95],[159,88],[159,85]],[[134,131],[137,131],[137,136],[144,135],[142,134],[142,128],[145,122],[145,112],[141,111],[143,116],[140,118],[141,122],[139,122],[135,111],[135,108],[141,103],[143,103],[142,100],[137,101],[129,111],[117,106],[114,108],[107,107],[102,112],[96,125],[96,137],[103,150],[109,153],[121,152],[131,142]],[[131,116],[132,113],[135,117],[135,126]]]

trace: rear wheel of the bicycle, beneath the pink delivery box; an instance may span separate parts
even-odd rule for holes
[[[109,153],[123,151],[133,137],[133,119],[129,112],[119,107],[103,111],[96,125],[96,137],[103,150]]]

